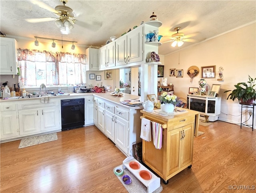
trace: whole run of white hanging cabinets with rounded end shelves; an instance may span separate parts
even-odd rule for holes
[[[162,25],[155,20],[146,22],[99,49],[100,70],[139,66],[158,53],[160,42],[148,42],[146,34],[153,33]]]

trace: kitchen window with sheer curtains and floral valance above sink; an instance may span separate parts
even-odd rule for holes
[[[86,55],[18,49],[21,86],[86,84]]]

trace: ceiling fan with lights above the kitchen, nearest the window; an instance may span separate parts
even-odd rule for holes
[[[26,19],[27,22],[30,23],[38,23],[38,22],[48,22],[48,21],[54,21],[56,26],[60,28],[60,31],[62,34],[69,34],[70,30],[74,28],[73,24],[77,24],[83,27],[88,27],[90,29],[95,29],[95,26],[87,24],[85,22],[77,21],[76,14],[72,10],[72,8],[66,6],[66,3],[68,0],[60,0],[60,2],[63,5],[57,5],[55,8],[51,8],[50,6],[44,4],[43,2],[37,1],[37,0],[30,0],[33,4],[36,4],[37,6],[44,8],[50,12],[53,12],[56,14],[58,18],[29,18]],[[101,27],[102,23],[95,23],[97,27]]]

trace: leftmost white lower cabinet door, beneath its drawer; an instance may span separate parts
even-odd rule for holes
[[[1,113],[0,139],[18,136],[19,119],[16,111]]]

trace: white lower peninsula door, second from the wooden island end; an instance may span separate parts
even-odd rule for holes
[[[109,111],[105,111],[105,134],[114,141],[115,122],[114,114]]]

